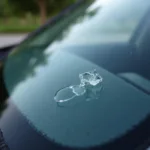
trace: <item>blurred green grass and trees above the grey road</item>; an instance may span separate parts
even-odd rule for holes
[[[0,0],[0,33],[27,33],[76,0]]]

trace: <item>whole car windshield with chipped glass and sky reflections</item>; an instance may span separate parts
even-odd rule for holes
[[[47,148],[139,146],[150,114],[149,8],[148,0],[81,0],[10,53],[11,101]]]

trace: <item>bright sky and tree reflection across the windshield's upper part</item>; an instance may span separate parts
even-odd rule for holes
[[[134,7],[133,7],[134,6]],[[91,45],[129,41],[140,20],[147,12],[149,2],[141,0],[87,0],[69,16],[58,20],[34,37],[30,45],[53,44]],[[28,44],[29,44],[28,43]]]

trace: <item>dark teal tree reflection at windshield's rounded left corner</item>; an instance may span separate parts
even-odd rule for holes
[[[10,55],[5,74],[7,76],[7,83],[9,89],[12,91],[13,88],[26,78],[36,75],[35,69],[40,65],[47,64],[48,55],[42,51],[45,47],[23,47],[23,50],[14,52]]]

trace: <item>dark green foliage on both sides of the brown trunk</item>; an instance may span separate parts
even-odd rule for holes
[[[17,16],[23,16],[26,13],[32,13],[34,15],[39,14],[38,0],[0,0],[0,1],[4,1],[5,4],[2,5],[6,6],[7,4],[11,12]],[[49,15],[56,14],[75,1],[76,0],[46,0],[47,12]]]

